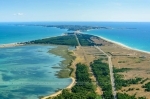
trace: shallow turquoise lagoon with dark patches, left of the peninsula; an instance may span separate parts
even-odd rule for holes
[[[0,99],[38,99],[67,87],[70,78],[55,76],[63,58],[47,53],[53,46],[0,49]]]

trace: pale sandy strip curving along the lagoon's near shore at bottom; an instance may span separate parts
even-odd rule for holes
[[[71,84],[68,85],[68,86],[67,86],[66,88],[64,88],[64,89],[71,89],[71,88],[74,86],[74,84],[75,84],[75,78],[73,78],[73,77],[70,77],[70,78],[72,79]],[[44,97],[41,98],[41,99],[47,99],[47,98],[50,98],[50,97],[55,97],[55,96],[61,94],[61,92],[62,92],[62,90],[60,90],[60,91],[58,91],[58,92],[55,92],[54,94],[51,94],[51,95],[48,95],[48,96],[44,96]]]

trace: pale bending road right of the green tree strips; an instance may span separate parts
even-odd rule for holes
[[[113,73],[113,66],[112,66],[111,56],[106,54],[102,49],[100,49],[100,47],[98,47],[98,46],[94,46],[94,47],[97,48],[100,52],[104,53],[108,57],[112,92],[113,92],[113,95],[114,95],[114,99],[117,99],[116,98],[116,91],[115,91],[116,88],[115,88],[115,83],[114,83],[114,73]]]

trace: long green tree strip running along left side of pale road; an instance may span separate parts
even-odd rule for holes
[[[91,64],[92,71],[98,81],[98,84],[102,88],[104,99],[114,99],[112,95],[112,87],[109,75],[109,66],[107,63],[103,63],[101,59],[95,60]]]

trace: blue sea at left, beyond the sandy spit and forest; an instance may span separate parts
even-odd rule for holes
[[[67,31],[66,29],[47,28],[42,26],[1,23],[0,44],[26,42],[35,39],[58,36],[66,31]]]

